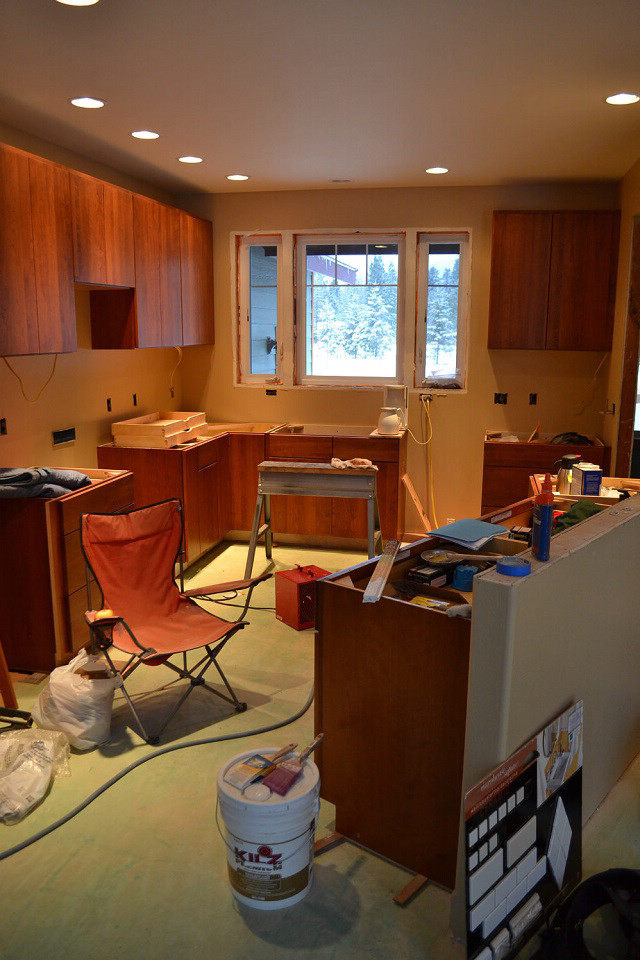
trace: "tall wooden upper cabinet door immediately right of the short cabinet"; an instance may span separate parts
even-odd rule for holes
[[[137,346],[182,343],[179,211],[133,195]]]

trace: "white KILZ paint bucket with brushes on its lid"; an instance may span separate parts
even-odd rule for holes
[[[311,888],[315,821],[320,809],[320,775],[312,760],[285,797],[259,785],[244,793],[224,780],[230,767],[256,753],[239,753],[218,772],[218,804],[227,847],[233,895],[258,910],[279,910],[298,903]],[[254,799],[255,798],[255,799]],[[217,811],[216,811],[217,816]],[[220,825],[219,825],[220,826]]]

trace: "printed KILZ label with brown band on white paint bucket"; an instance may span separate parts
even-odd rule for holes
[[[288,900],[311,881],[315,821],[302,836],[279,844],[253,844],[228,835],[229,881],[252,900]]]

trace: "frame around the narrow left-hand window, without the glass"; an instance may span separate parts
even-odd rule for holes
[[[236,234],[236,379],[238,383],[261,385],[282,383],[283,355],[286,338],[284,317],[283,238],[279,233]],[[251,317],[249,285],[249,251],[251,247],[276,247],[276,369],[275,373],[251,373]]]

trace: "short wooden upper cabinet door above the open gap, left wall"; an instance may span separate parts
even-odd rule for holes
[[[103,180],[71,171],[77,283],[133,287],[133,199]]]

